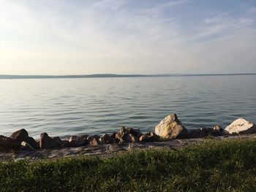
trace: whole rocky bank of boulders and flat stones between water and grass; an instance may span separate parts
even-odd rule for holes
[[[29,137],[25,129],[15,131],[10,137],[0,136],[0,161],[28,158],[61,158],[68,156],[102,155],[111,156],[118,152],[145,148],[173,148],[198,145],[207,138],[222,140],[233,138],[255,138],[254,123],[239,118],[225,129],[199,128],[187,130],[176,114],[161,120],[154,132],[143,134],[136,128],[122,127],[113,134],[79,135],[61,140],[42,133],[39,140]]]

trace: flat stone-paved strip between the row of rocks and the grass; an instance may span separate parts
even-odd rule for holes
[[[103,158],[110,158],[120,153],[135,150],[178,150],[193,145],[201,145],[204,142],[220,142],[225,140],[256,139],[256,134],[225,135],[219,137],[206,137],[194,139],[171,139],[159,142],[124,142],[105,145],[86,145],[80,147],[66,147],[60,149],[39,149],[39,150],[19,150],[8,153],[0,152],[0,161],[39,161],[43,159],[56,158],[79,158],[83,156],[97,155]]]

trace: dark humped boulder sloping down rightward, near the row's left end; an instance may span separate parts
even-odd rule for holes
[[[33,137],[29,137],[29,133],[28,131],[26,131],[26,129],[20,129],[18,131],[15,131],[11,137],[13,140],[15,140],[16,142],[20,143],[21,142],[26,142],[27,144],[29,144],[31,147],[33,147],[34,149],[39,149],[39,145],[36,142],[36,140]]]

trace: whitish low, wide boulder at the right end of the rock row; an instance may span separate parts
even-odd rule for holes
[[[244,119],[238,118],[234,120],[229,126],[225,128],[228,134],[255,134],[256,126],[254,123]]]

